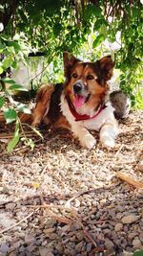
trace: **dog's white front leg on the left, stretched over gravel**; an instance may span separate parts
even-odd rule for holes
[[[75,124],[74,126],[72,126],[72,132],[80,141],[81,146],[87,149],[92,149],[92,147],[96,144],[96,140],[88,129]]]

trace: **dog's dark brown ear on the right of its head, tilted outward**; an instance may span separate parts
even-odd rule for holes
[[[106,81],[112,78],[112,69],[114,66],[114,61],[112,61],[111,56],[103,57],[96,61],[96,74],[98,76],[99,82],[104,85]]]

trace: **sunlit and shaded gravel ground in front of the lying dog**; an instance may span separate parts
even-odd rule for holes
[[[113,150],[43,129],[33,151],[21,142],[8,155],[10,130],[0,128],[0,256],[143,253],[143,190],[116,176],[143,184],[142,114],[120,122]]]

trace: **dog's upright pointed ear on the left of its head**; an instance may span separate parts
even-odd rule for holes
[[[64,76],[66,78],[69,78],[71,75],[72,66],[80,60],[78,58],[73,57],[72,54],[69,52],[63,53],[63,60],[64,60]]]

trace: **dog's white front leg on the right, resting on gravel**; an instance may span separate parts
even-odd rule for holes
[[[114,140],[116,135],[118,134],[118,128],[116,121],[112,121],[109,123],[106,123],[101,129],[100,129],[100,141],[103,146],[105,147],[114,147]]]

